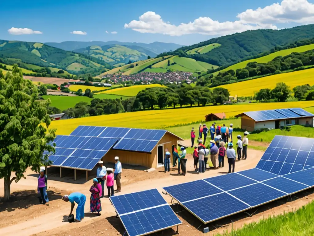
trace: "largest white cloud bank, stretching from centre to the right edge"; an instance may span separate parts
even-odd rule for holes
[[[171,36],[186,34],[227,35],[256,29],[278,29],[276,23],[314,23],[314,4],[307,0],[283,0],[256,10],[248,9],[236,16],[239,20],[219,22],[210,17],[199,17],[193,22],[171,25],[155,12],[145,12],[139,20],[132,20],[124,28],[141,33]]]

